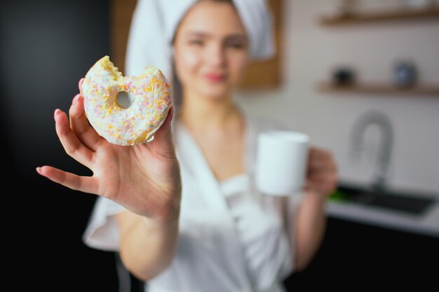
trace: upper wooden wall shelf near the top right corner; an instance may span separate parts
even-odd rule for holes
[[[425,9],[396,9],[391,11],[364,12],[351,15],[327,15],[320,18],[320,25],[351,25],[363,22],[389,20],[439,20],[439,7]]]

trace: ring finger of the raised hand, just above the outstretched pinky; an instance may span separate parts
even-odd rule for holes
[[[56,133],[66,153],[82,165],[90,168],[93,153],[76,137],[76,134],[69,126],[67,115],[60,109],[56,109],[54,118]]]

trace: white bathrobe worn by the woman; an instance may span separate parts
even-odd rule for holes
[[[272,128],[273,123],[246,117],[245,174],[219,182],[191,133],[173,121],[183,186],[177,252],[145,291],[284,291],[282,280],[293,270],[292,226],[301,197],[281,199],[255,190],[257,134]],[[98,198],[84,242],[118,250],[114,214],[122,210]]]

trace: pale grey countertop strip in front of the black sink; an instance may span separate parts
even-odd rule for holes
[[[439,238],[439,198],[419,215],[331,200],[326,209],[328,216],[334,218]]]

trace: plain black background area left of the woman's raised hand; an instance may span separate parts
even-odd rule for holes
[[[2,279],[11,281],[9,291],[117,291],[114,254],[81,241],[95,195],[35,171],[53,165],[90,174],[65,154],[53,111],[68,111],[79,79],[110,53],[108,18],[102,0],[1,1]]]

